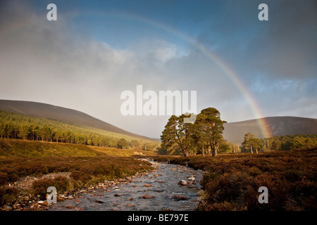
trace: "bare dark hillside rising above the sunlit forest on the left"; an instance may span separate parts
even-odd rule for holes
[[[86,113],[45,103],[0,100],[0,110],[33,117],[61,120],[62,122],[70,124],[82,124],[88,127],[103,129],[105,131],[111,131],[118,134],[125,134],[147,141],[159,141],[159,139],[151,139],[147,136],[141,136],[138,134],[133,134],[129,131],[125,131],[124,129],[120,129],[119,127],[108,124],[107,122],[98,120],[97,118],[87,115]]]

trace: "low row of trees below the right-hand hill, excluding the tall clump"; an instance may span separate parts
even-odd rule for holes
[[[245,134],[242,152],[257,153],[266,150],[309,150],[317,148],[317,134],[273,136],[256,139],[251,133]]]

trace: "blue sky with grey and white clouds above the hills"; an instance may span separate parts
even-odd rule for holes
[[[170,116],[122,115],[123,91],[197,91],[197,112],[213,107],[227,122],[317,118],[316,12],[315,0],[1,0],[0,99],[152,138]]]

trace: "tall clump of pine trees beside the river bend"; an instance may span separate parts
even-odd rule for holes
[[[161,152],[179,154],[211,153],[216,156],[220,146],[228,147],[223,140],[223,123],[216,108],[201,110],[196,120],[187,122],[190,115],[172,115],[161,135]]]

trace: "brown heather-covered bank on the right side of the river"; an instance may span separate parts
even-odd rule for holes
[[[207,172],[199,210],[317,209],[317,150],[155,159]],[[268,188],[268,204],[258,201],[261,186]]]

